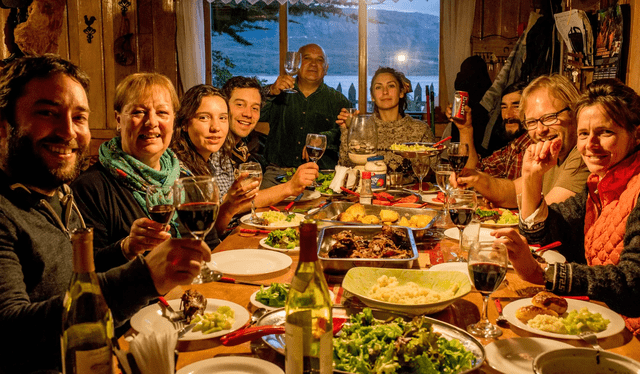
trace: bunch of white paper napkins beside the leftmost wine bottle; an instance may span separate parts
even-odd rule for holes
[[[178,332],[160,330],[138,334],[129,343],[129,351],[142,374],[174,374]]]

